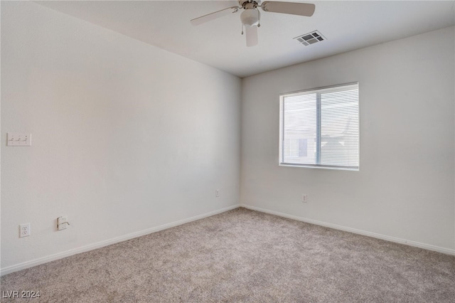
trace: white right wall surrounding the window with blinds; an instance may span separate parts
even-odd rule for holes
[[[454,53],[451,27],[243,79],[241,203],[455,253]],[[356,81],[360,171],[278,166],[279,94]]]

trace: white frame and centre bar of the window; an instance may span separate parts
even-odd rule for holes
[[[336,166],[336,165],[322,165],[322,164],[299,164],[284,162],[284,97],[293,97],[297,95],[310,95],[316,94],[316,150],[321,149],[321,100],[320,93],[326,93],[340,90],[341,87],[346,87],[349,90],[350,86],[356,86],[358,90],[358,166]],[[319,147],[318,147],[319,146]],[[316,152],[316,163],[320,163],[321,152]],[[313,169],[338,169],[345,171],[359,171],[360,170],[360,85],[358,82],[343,83],[339,85],[330,85],[324,87],[310,88],[306,90],[298,90],[294,92],[284,92],[279,94],[279,166],[295,166]]]

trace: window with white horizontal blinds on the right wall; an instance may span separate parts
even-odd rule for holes
[[[358,170],[358,83],[280,95],[279,164]]]

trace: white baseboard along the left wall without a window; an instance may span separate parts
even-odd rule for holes
[[[93,243],[93,244],[90,244],[90,245],[85,245],[85,246],[82,246],[80,248],[75,248],[73,250],[66,250],[65,252],[58,252],[56,254],[48,255],[46,257],[40,257],[40,258],[35,259],[35,260],[22,262],[22,263],[19,263],[19,264],[16,264],[16,265],[11,265],[9,267],[1,268],[0,275],[3,276],[3,275],[7,275],[7,274],[9,274],[11,272],[17,272],[18,270],[25,270],[26,268],[29,268],[29,267],[33,267],[33,266],[36,266],[36,265],[47,263],[47,262],[50,262],[50,261],[53,261],[53,260],[62,259],[64,257],[69,257],[70,255],[76,255],[76,254],[78,254],[80,252],[87,252],[89,250],[95,250],[97,248],[102,248],[102,247],[105,247],[107,245],[112,245],[112,244],[115,244],[115,243],[119,243],[119,242],[122,242],[122,241],[125,241],[125,240],[132,239],[132,238],[137,238],[137,237],[140,237],[141,235],[148,235],[149,233],[156,233],[159,230],[164,230],[164,229],[167,229],[167,228],[173,228],[175,226],[182,225],[182,224],[185,224],[185,223],[189,223],[191,221],[196,221],[196,220],[200,220],[200,219],[207,218],[207,217],[210,217],[210,216],[218,215],[218,213],[224,213],[226,211],[231,211],[232,209],[239,208],[239,207],[240,207],[240,204],[236,204],[234,206],[229,206],[227,208],[222,208],[222,209],[219,209],[217,211],[210,211],[210,213],[203,213],[202,215],[194,216],[194,217],[191,217],[191,218],[186,218],[186,219],[183,219],[183,220],[178,220],[178,221],[167,223],[167,224],[164,224],[164,225],[159,225],[159,226],[156,226],[154,228],[148,228],[146,230],[140,230],[140,231],[138,231],[136,233],[129,233],[127,235],[122,235],[122,236],[117,237],[117,238],[104,240],[104,241],[101,241],[101,242],[98,242],[98,243]]]

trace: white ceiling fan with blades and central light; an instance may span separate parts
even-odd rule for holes
[[[247,36],[247,46],[257,45],[257,28],[261,26],[259,23],[261,14],[259,13],[260,7],[262,11],[282,14],[292,14],[299,16],[313,16],[314,4],[296,3],[296,2],[282,2],[282,1],[264,1],[261,4],[260,0],[239,0],[239,6],[231,6],[227,9],[221,9],[213,13],[200,16],[192,19],[190,22],[193,26],[212,21],[213,19],[235,14],[240,9],[243,9],[240,14],[240,21],[242,21],[242,34],[245,27]]]

